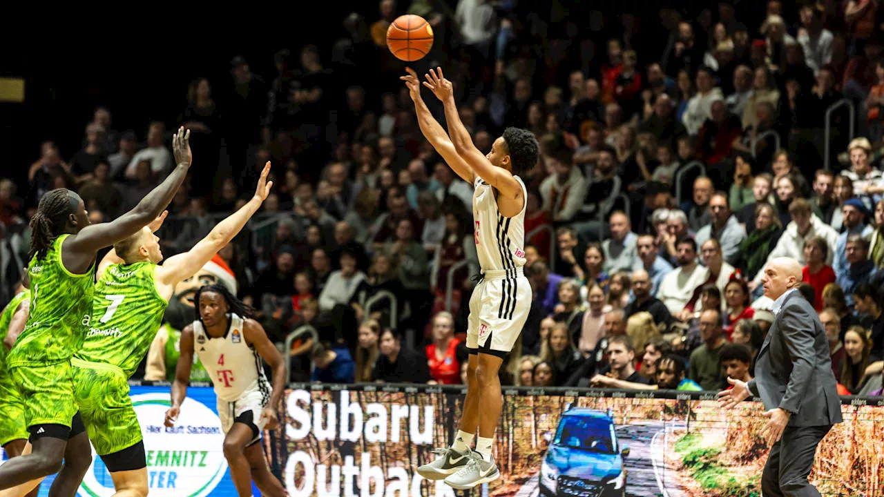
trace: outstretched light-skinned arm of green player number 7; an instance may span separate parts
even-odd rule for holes
[[[217,254],[218,250],[224,248],[237,233],[240,233],[242,227],[246,226],[248,219],[255,215],[264,199],[271,193],[273,181],[267,181],[270,172],[271,163],[268,162],[264,164],[261,179],[258,180],[258,186],[255,188],[255,196],[246,205],[218,223],[205,238],[194,245],[194,248],[178,256],[169,257],[169,260],[162,266],[157,266],[156,284],[161,295],[171,296],[172,289],[179,281],[200,271],[202,266]]]

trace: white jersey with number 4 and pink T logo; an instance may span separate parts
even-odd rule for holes
[[[246,343],[242,325],[242,317],[231,313],[225,336],[211,338],[202,327],[202,321],[194,321],[194,351],[209,371],[219,399],[233,402],[243,394],[260,391],[266,403],[271,386],[264,375],[261,356]]]

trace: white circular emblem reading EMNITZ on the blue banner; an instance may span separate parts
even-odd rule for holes
[[[199,393],[202,389],[195,390]],[[194,389],[188,393],[193,394]],[[216,412],[215,395],[188,396],[181,404],[174,428],[163,424],[165,411],[171,405],[169,394],[130,396],[144,436],[150,495],[204,497],[212,494],[227,470],[221,450],[224,432]],[[203,403],[207,400],[212,402],[211,407]],[[92,466],[83,478],[80,495],[110,497],[115,492],[110,473],[93,449]]]

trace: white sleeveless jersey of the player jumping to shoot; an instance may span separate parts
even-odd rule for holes
[[[476,252],[482,271],[512,271],[525,265],[525,206],[528,190],[518,176],[525,203],[522,210],[512,218],[500,214],[494,187],[476,176],[473,182],[473,231],[476,236]]]

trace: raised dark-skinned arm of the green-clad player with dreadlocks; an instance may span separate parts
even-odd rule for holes
[[[75,265],[91,264],[99,249],[132,236],[163,212],[187,177],[187,170],[190,169],[192,156],[189,138],[190,132],[185,132],[183,128],[172,137],[172,149],[178,165],[158,187],[145,195],[133,210],[110,223],[86,226],[80,230],[80,233],[71,236],[68,239],[70,241],[65,241],[64,248],[74,257]]]

